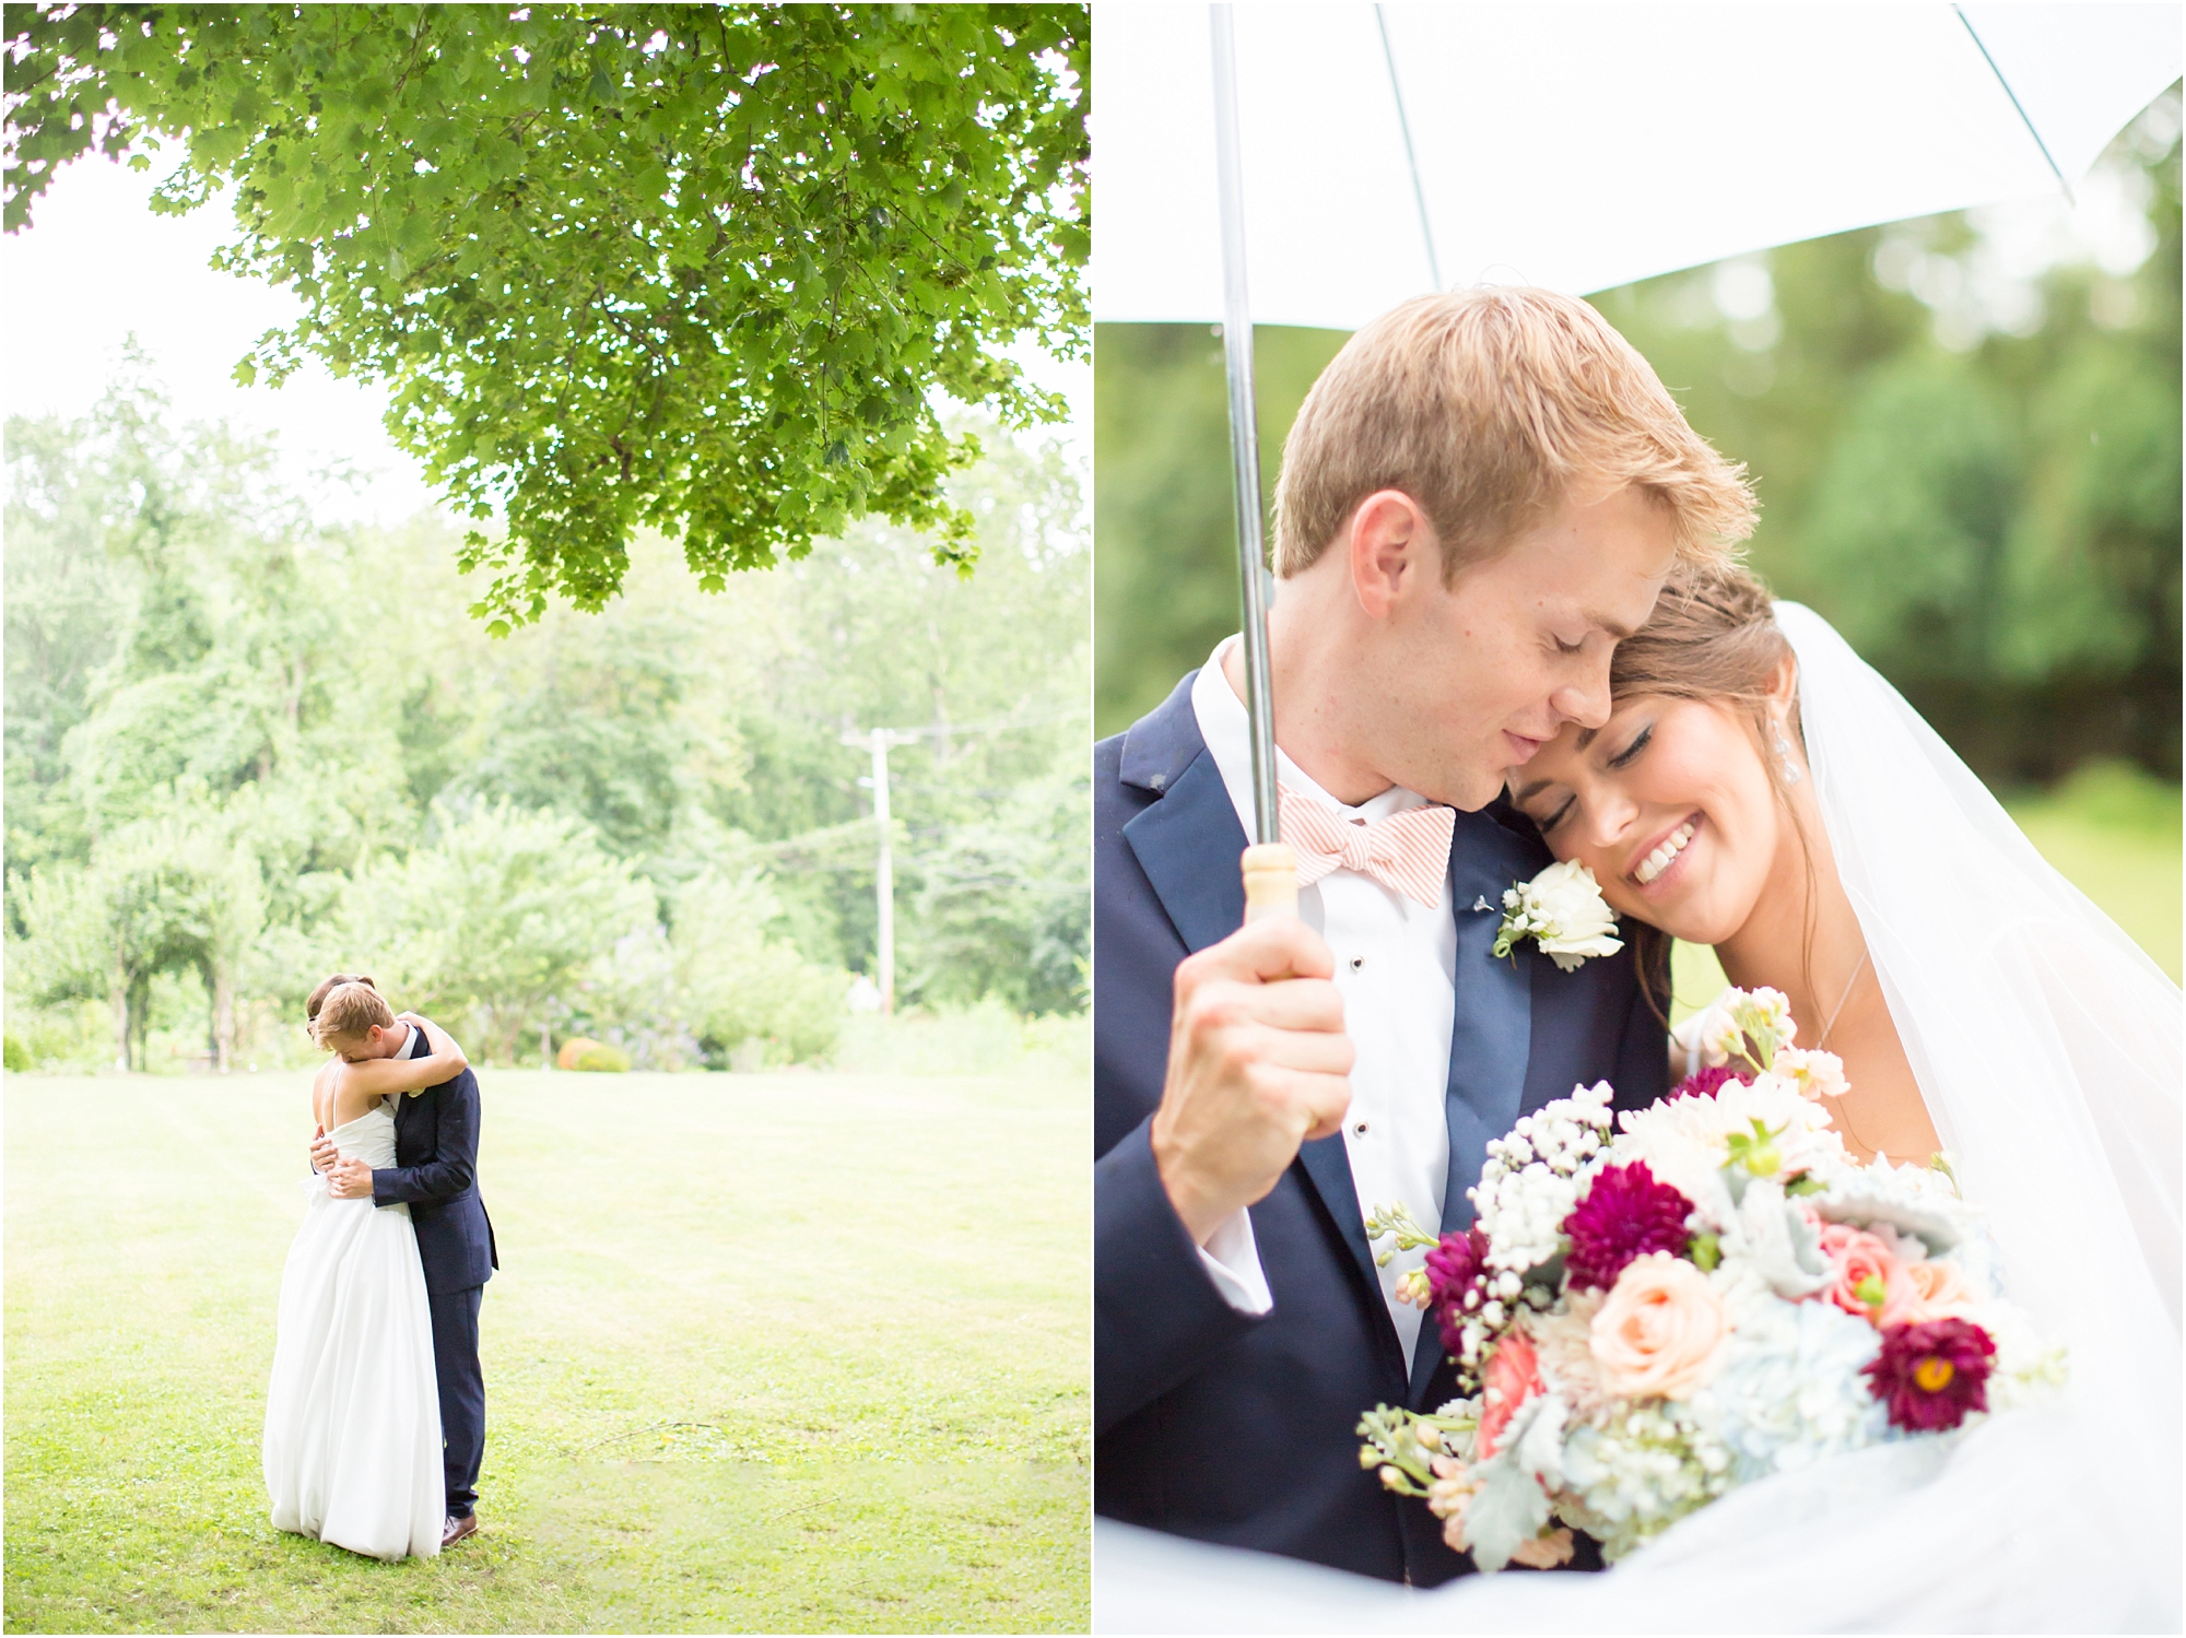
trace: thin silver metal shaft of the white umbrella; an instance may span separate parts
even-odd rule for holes
[[[1207,9],[1215,70],[1215,181],[1222,199],[1222,360],[1231,393],[1237,583],[1244,590],[1244,710],[1253,732],[1253,841],[1281,841],[1274,797],[1274,690],[1268,679],[1268,559],[1259,529],[1259,413],[1253,404],[1253,304],[1244,282],[1244,170],[1237,142],[1237,37],[1231,7]]]

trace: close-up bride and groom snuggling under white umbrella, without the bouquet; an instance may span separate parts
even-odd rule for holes
[[[1347,343],[1283,450],[1298,915],[1239,928],[1235,638],[1097,747],[1104,1627],[1403,1625],[1386,1583],[1449,1583],[1417,1618],[2175,1629],[2179,992],[1771,601],[1733,555],[1751,526],[1742,472],[1589,306],[1423,297]],[[1554,860],[1622,939],[1497,957],[1506,889]],[[1366,1216],[1467,1230],[1519,1116],[1596,1081],[1640,1109],[1696,1068],[1672,939],[1843,1059],[1856,1158],[1950,1155],[2070,1389],[1926,1470],[1747,1485],[1607,1575],[1473,1577],[1360,1465],[1364,1411],[1458,1396],[1406,1299],[1421,1251],[1377,1262]]]

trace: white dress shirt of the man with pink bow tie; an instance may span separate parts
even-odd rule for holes
[[[1222,657],[1237,638],[1224,638],[1191,684],[1191,714],[1215,760],[1222,786],[1244,834],[1253,834],[1253,740],[1244,701],[1222,675]],[[1344,806],[1323,791],[1281,747],[1277,778],[1301,797],[1325,804],[1344,823],[1375,823],[1425,797],[1390,786],[1371,802]],[[1344,1153],[1360,1212],[1403,1201],[1432,1234],[1443,1221],[1449,1179],[1449,1031],[1458,996],[1458,924],[1449,904],[1449,876],[1441,902],[1425,904],[1384,887],[1373,876],[1336,867],[1298,889],[1298,915],[1336,952],[1336,989],[1344,998],[1351,1035],[1351,1112],[1344,1116]],[[1375,1247],[1377,1251],[1384,1247]],[[1200,1249],[1209,1278],[1233,1308],[1268,1313],[1274,1306],[1259,1267],[1250,1212],[1235,1212]],[[1412,1356],[1425,1315],[1397,1302],[1397,1280],[1425,1262],[1406,1251],[1382,1269],[1382,1297],[1403,1356]]]

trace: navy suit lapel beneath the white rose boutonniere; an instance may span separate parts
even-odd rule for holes
[[[1458,994],[1449,1029],[1449,1173],[1443,1184],[1443,1232],[1471,1227],[1465,1190],[1480,1182],[1489,1138],[1500,1138],[1519,1116],[1526,1059],[1532,1053],[1532,954],[1497,961],[1491,954],[1502,926],[1502,895],[1539,869],[1535,850],[1484,812],[1460,812],[1449,843],[1449,902],[1458,917]],[[1489,909],[1473,904],[1486,900]],[[1419,1328],[1412,1350],[1412,1402],[1427,1393],[1441,1363],[1434,1324]]]

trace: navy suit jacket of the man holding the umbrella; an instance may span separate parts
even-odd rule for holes
[[[1500,804],[1497,804],[1500,806]],[[1176,963],[1244,919],[1244,828],[1191,712],[1191,677],[1093,749],[1093,1496],[1132,1524],[1434,1586],[1462,1575],[1419,1500],[1360,1468],[1375,1404],[1456,1396],[1434,1324],[1403,1358],[1366,1245],[1342,1136],[1309,1142],[1253,1206],[1274,1308],[1231,1308],[1154,1168]],[[1664,1029],[1633,952],[1561,972],[1532,946],[1495,961],[1504,889],[1550,863],[1508,810],[1460,812],[1449,852],[1458,917],[1443,1227],[1489,1138],[1580,1081],[1642,1107],[1668,1081]],[[1486,898],[1495,911],[1473,911]],[[1368,1201],[1379,1206],[1382,1201]]]

